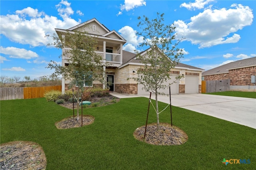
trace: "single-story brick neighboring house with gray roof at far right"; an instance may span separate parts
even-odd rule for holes
[[[242,59],[204,71],[202,80],[230,79],[230,91],[253,91],[251,76],[256,75],[256,57]]]

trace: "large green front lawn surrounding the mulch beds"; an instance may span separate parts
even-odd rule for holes
[[[48,170],[106,169],[256,169],[256,130],[186,109],[172,107],[173,124],[188,141],[177,146],[154,146],[133,137],[145,125],[148,99],[128,98],[104,107],[84,109],[94,123],[57,129],[70,115],[45,98],[1,101],[0,142],[33,141],[44,149]],[[160,103],[160,109],[166,104]],[[149,123],[156,122],[151,107]],[[160,114],[170,123],[170,111]],[[223,158],[250,159],[250,164],[222,164]]]

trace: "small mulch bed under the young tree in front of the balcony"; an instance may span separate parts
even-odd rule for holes
[[[94,122],[94,117],[91,115],[83,115],[83,126],[90,125]],[[55,123],[58,129],[66,129],[66,128],[76,128],[82,126],[82,115],[79,115],[78,121],[76,120],[76,115],[73,117],[68,117]]]

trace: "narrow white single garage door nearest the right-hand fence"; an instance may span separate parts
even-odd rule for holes
[[[185,93],[198,93],[198,76],[186,75],[185,77]]]

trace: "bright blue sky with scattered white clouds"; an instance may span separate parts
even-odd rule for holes
[[[186,38],[181,63],[205,70],[231,61],[256,57],[255,0],[1,0],[1,76],[31,79],[50,75],[50,60],[61,63],[60,50],[47,47],[44,38],[54,28],[68,29],[96,18],[127,42],[123,49],[138,49],[138,16],[176,26],[177,38]]]

